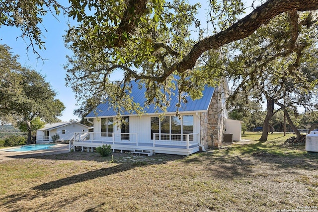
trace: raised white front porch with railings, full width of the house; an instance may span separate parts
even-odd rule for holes
[[[153,140],[139,141],[137,133],[75,133],[70,141],[70,151],[76,146],[81,150],[110,144],[113,151],[147,151],[153,153],[190,155],[200,150],[198,134],[161,134],[154,133]]]

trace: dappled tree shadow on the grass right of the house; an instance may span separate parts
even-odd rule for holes
[[[183,161],[203,166],[204,170],[210,171],[211,176],[228,179],[254,177],[260,171],[255,169],[259,165],[286,170],[287,173],[295,169],[317,170],[318,153],[307,153],[297,148],[288,149],[279,144],[258,141],[252,144],[233,144],[213,153],[193,154]]]

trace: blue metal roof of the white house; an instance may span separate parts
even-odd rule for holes
[[[146,88],[142,86],[139,88],[138,84],[132,81],[132,90],[131,96],[134,99],[135,103],[139,103],[141,106],[144,106],[147,99],[145,98]],[[176,89],[174,94],[171,94],[170,106],[166,108],[166,113],[169,112],[176,112],[177,107],[176,104],[178,103],[178,90]],[[209,108],[209,104],[211,102],[214,87],[205,86],[204,90],[202,91],[203,96],[201,99],[192,100],[189,96],[186,97],[187,103],[181,103],[179,107],[179,112],[195,112],[195,111],[207,111]],[[154,114],[162,112],[159,108],[156,108],[154,104],[149,105],[144,109],[145,114]],[[121,115],[135,115],[136,112],[129,113],[125,112]],[[108,117],[108,116],[116,116],[116,112],[112,109],[109,102],[106,99],[105,103],[99,104],[96,109],[91,111],[85,118],[94,118],[94,117]]]

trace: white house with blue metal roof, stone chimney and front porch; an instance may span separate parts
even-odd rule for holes
[[[205,151],[209,147],[218,148],[223,141],[225,120],[228,119],[225,109],[228,90],[227,80],[217,88],[205,86],[201,99],[192,100],[187,97],[187,103],[181,103],[180,117],[176,116],[177,91],[171,96],[170,106],[166,108],[165,113],[156,111],[155,106],[150,105],[145,108],[144,115],[126,112],[121,116],[121,120],[116,119],[117,113],[106,101],[85,117],[93,123],[94,132],[75,134],[70,148],[73,147],[75,150],[75,147],[79,146],[83,150],[87,147],[89,151],[103,144],[111,144],[113,150],[148,155],[189,155],[200,149]],[[145,87],[132,82],[130,95],[134,102],[143,105],[146,101],[145,92]],[[227,130],[240,134],[240,129]]]

